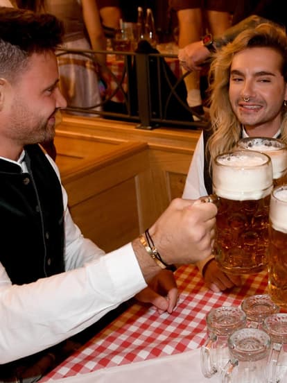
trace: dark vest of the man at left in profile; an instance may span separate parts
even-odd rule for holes
[[[64,271],[60,181],[40,146],[25,152],[28,173],[0,159],[0,262],[12,284]]]

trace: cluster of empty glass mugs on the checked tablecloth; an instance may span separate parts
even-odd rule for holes
[[[211,309],[200,350],[202,374],[221,383],[287,382],[287,314],[278,312],[268,295]]]

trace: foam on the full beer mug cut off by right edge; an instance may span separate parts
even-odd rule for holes
[[[272,228],[287,233],[287,185],[277,187],[270,200]]]

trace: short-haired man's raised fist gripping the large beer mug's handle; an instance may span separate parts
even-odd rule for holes
[[[150,228],[167,264],[191,264],[209,257],[216,234],[214,203],[175,198]]]

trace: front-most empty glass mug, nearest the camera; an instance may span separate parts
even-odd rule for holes
[[[230,359],[221,383],[263,383],[270,352],[270,336],[258,328],[236,330],[228,339]]]

